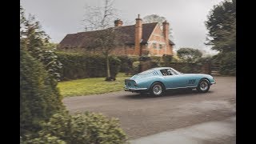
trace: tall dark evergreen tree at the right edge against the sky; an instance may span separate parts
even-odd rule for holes
[[[210,11],[206,27],[209,30],[206,45],[213,50],[236,50],[236,1],[224,1]]]

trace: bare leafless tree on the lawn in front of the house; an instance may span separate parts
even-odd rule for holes
[[[113,7],[113,0],[104,0],[102,7],[86,7],[86,18],[84,19],[87,30],[95,30],[90,35],[90,41],[87,43],[86,50],[94,50],[101,52],[106,57],[106,80],[112,80],[110,76],[110,53],[116,46],[120,46],[120,34],[114,28],[110,28],[114,24],[117,16],[117,10]]]

